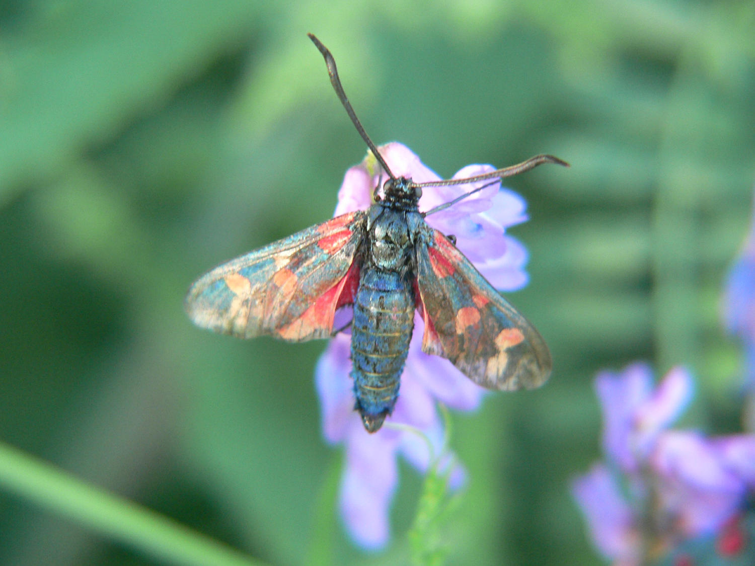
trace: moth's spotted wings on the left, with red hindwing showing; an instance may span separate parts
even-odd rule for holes
[[[342,214],[223,263],[191,286],[186,312],[242,338],[327,338],[335,310],[353,303],[365,226],[365,211]]]

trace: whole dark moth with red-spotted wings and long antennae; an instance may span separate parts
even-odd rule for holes
[[[424,319],[422,350],[451,361],[488,389],[541,386],[550,352],[538,331],[455,247],[455,238],[418,208],[427,186],[510,177],[543,163],[568,166],[552,155],[467,179],[414,183],[396,177],[356,117],[328,48],[310,39],[348,115],[387,174],[366,211],[342,214],[273,242],[202,275],[186,295],[186,312],[202,328],[236,337],[267,335],[303,342],[334,336],[334,314],[353,306],[351,358],[355,410],[368,432],[381,428],[399,395],[414,311]],[[489,184],[489,183],[488,183]],[[336,331],[337,332],[337,331]]]

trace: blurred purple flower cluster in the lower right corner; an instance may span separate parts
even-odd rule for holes
[[[686,370],[672,369],[654,389],[649,366],[634,364],[599,374],[596,390],[607,463],[578,478],[573,492],[606,558],[641,564],[720,531],[741,510],[755,488],[755,435],[667,430],[692,397]]]

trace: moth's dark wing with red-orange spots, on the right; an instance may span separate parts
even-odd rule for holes
[[[448,358],[488,389],[531,389],[545,383],[550,352],[538,331],[448,238],[424,225],[418,239],[423,351]]]

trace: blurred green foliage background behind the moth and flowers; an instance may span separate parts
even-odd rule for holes
[[[720,325],[755,168],[755,4],[644,0],[0,3],[0,440],[270,564],[403,564],[345,537],[322,441],[325,343],[242,342],[183,314],[206,269],[321,222],[376,143],[509,184],[551,346],[536,392],[454,417],[470,472],[451,564],[599,564],[569,495],[599,453],[592,378],[689,365],[689,423],[738,430]],[[54,559],[51,559],[54,557]],[[0,564],[161,564],[0,491]]]

